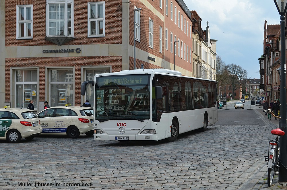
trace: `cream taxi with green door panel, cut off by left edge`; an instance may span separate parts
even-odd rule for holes
[[[19,143],[22,138],[32,140],[42,133],[39,119],[33,110],[5,106],[0,109],[0,139]]]

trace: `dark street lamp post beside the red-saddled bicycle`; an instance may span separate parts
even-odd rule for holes
[[[281,120],[279,127],[282,131],[285,132],[285,135],[280,137],[280,163],[279,163],[279,176],[278,181],[279,182],[287,182],[287,126],[286,126],[286,59],[285,59],[285,53],[286,53],[286,46],[285,46],[285,14],[287,9],[287,0],[274,0],[274,3],[278,9],[280,16],[280,35],[281,35],[281,82],[280,82],[280,103],[281,103],[281,109],[280,109],[280,115]]]

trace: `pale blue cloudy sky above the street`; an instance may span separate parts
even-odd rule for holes
[[[259,60],[263,54],[264,20],[280,24],[273,0],[184,0],[189,10],[201,17],[201,27],[216,42],[216,53],[227,64],[247,70],[248,78],[260,78]]]

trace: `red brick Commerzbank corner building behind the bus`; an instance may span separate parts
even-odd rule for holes
[[[193,22],[181,0],[5,0],[0,14],[0,107],[93,104],[82,82],[134,69],[134,31],[136,68],[193,76]]]

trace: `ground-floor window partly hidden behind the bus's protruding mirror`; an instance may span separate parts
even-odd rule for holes
[[[86,76],[85,80],[86,81],[94,80],[94,76],[96,74],[110,73],[110,72],[111,72],[110,68],[94,68],[94,69],[86,68],[86,70],[85,70],[85,76]],[[89,100],[89,103],[93,106],[95,99],[97,100],[97,108],[101,109],[102,108],[101,106],[103,104],[100,104],[99,101],[102,101],[102,97],[94,98],[94,87],[92,86],[92,84],[87,84],[85,100]]]

